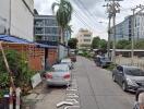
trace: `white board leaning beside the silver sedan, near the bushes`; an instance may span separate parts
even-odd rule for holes
[[[32,82],[33,88],[35,88],[39,83],[41,83],[40,74],[37,73],[36,75],[34,75],[34,76],[31,78],[31,82]]]

